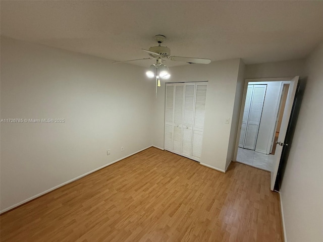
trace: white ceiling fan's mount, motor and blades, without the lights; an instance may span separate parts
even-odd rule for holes
[[[163,43],[165,39],[166,37],[164,35],[158,34],[155,36],[155,40],[158,43],[157,46],[152,46],[148,50],[142,49],[143,51],[147,52],[150,55],[150,57],[148,58],[130,59],[128,61],[114,62],[114,64],[139,61],[142,59],[156,59],[156,65],[162,63],[164,59],[170,59],[171,61],[175,61],[175,62],[186,62],[188,64],[209,64],[211,62],[210,59],[205,59],[205,58],[170,56],[171,49],[166,46],[161,46],[161,43]]]

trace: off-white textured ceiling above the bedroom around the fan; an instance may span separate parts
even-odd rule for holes
[[[4,36],[108,58],[177,56],[246,64],[305,57],[323,41],[323,1],[1,1]],[[148,66],[153,61],[131,62]],[[167,61],[168,66],[185,65]]]

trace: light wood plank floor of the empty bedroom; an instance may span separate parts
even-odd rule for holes
[[[146,149],[1,217],[1,241],[283,241],[270,173]]]

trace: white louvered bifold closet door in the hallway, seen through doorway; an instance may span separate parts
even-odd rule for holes
[[[266,94],[267,85],[250,85],[250,86],[253,86],[252,87],[253,90],[251,95],[248,122],[246,126],[243,148],[254,150],[256,147],[263,102]]]

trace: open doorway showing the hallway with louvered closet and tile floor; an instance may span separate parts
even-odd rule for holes
[[[237,162],[272,171],[288,88],[283,80],[248,82]]]

